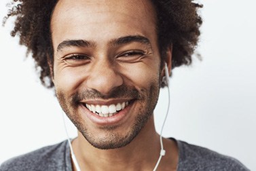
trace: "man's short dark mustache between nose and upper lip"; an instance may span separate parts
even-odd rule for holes
[[[94,99],[106,100],[109,98],[142,99],[143,97],[141,96],[139,91],[136,90],[135,88],[130,88],[128,86],[119,86],[111,90],[111,92],[109,92],[109,94],[107,95],[101,94],[100,92],[98,92],[98,90],[95,90],[95,89],[90,89],[90,90],[86,89],[86,90],[83,90],[82,92],[76,92],[72,96],[71,101],[73,102],[73,104],[79,104],[81,100],[94,100]]]

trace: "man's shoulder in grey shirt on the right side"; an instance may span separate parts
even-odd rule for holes
[[[233,157],[180,140],[177,140],[177,143],[179,147],[178,170],[249,170]]]

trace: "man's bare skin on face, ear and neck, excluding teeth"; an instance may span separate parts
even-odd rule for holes
[[[78,129],[72,146],[81,170],[153,170],[156,165],[160,137],[152,114],[164,71],[155,16],[149,1],[138,0],[60,0],[54,9],[52,78],[62,109]],[[132,41],[120,43],[120,37]],[[166,54],[170,70],[171,48]],[[117,113],[123,117],[107,121],[94,121],[98,117],[83,106],[127,100],[126,111]],[[176,170],[176,143],[164,139],[164,147],[158,170]]]

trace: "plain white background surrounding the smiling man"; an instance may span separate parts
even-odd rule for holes
[[[6,12],[0,1],[0,18]],[[256,170],[256,1],[204,1],[204,24],[191,67],[173,70],[170,113],[164,136],[172,136],[236,157]],[[40,85],[31,58],[0,29],[0,164],[66,138],[54,93]],[[166,90],[158,102],[156,128],[166,111]],[[75,128],[68,123],[71,136]]]

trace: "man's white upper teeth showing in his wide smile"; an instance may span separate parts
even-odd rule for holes
[[[97,113],[102,117],[109,117],[124,109],[128,105],[128,102],[122,102],[117,104],[99,105],[99,104],[86,104],[86,107],[93,113]]]

